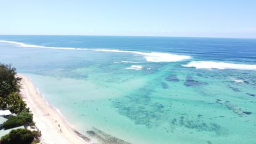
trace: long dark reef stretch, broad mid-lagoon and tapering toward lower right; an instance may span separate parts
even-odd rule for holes
[[[172,113],[177,113],[176,109],[173,111],[170,103],[152,99],[153,92],[148,88],[139,89],[129,96],[114,99],[113,106],[119,114],[130,118],[135,124],[145,125],[148,129],[161,127],[164,124],[165,127],[170,127],[166,131],[172,131],[178,126],[196,131],[209,131],[217,135],[227,134],[227,130],[217,123],[205,122],[201,114],[192,117],[183,113],[173,115]]]

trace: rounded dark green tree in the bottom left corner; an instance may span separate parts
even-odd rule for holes
[[[34,135],[30,130],[17,129],[12,130],[9,134],[4,135],[1,138],[1,144],[29,144],[34,140]]]

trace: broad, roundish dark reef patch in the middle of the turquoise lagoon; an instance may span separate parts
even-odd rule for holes
[[[159,125],[159,119],[164,117],[164,106],[162,103],[151,101],[150,95],[153,91],[139,89],[136,93],[115,99],[113,105],[119,114],[132,119],[135,124],[146,125],[148,128]]]

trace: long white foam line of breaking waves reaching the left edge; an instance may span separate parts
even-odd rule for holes
[[[186,59],[191,59],[188,55],[178,55],[178,54],[170,54],[170,53],[160,53],[160,52],[137,52],[137,51],[124,51],[118,49],[81,49],[75,47],[50,47],[50,46],[39,46],[39,45],[31,45],[25,44],[20,42],[13,42],[13,41],[3,41],[0,42],[4,43],[12,43],[19,45],[21,47],[37,47],[43,49],[58,49],[58,50],[91,50],[91,51],[105,51],[105,52],[122,52],[122,53],[134,53],[138,55],[143,55],[143,57],[150,62],[175,62],[175,61],[182,61]]]

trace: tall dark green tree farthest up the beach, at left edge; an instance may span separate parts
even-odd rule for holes
[[[21,78],[15,77],[16,74],[16,69],[12,68],[12,65],[0,63],[0,97],[19,92]]]

